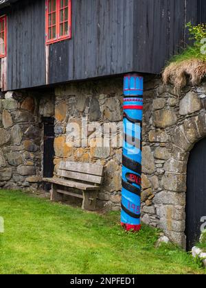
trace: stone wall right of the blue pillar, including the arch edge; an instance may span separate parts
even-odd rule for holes
[[[206,136],[206,82],[181,93],[156,78],[144,93],[142,220],[185,247],[187,160]]]

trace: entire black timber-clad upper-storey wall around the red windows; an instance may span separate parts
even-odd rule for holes
[[[205,12],[205,0],[72,0],[72,38],[46,53],[45,0],[18,1],[6,10],[8,90],[160,73],[187,40],[185,23],[205,21]]]

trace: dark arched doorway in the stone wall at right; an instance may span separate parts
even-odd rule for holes
[[[198,142],[187,164],[186,230],[187,250],[198,242],[201,219],[206,216],[206,139]]]

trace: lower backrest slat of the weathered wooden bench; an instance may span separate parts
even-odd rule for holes
[[[65,170],[58,169],[57,175],[60,177],[82,180],[85,182],[91,182],[91,183],[97,183],[97,184],[102,183],[101,176],[89,175],[89,174],[84,174],[84,173],[79,173],[79,172],[65,171]]]

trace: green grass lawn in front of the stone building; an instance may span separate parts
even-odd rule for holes
[[[158,231],[119,226],[97,215],[21,191],[0,191],[0,274],[204,274],[173,246],[155,248]]]

